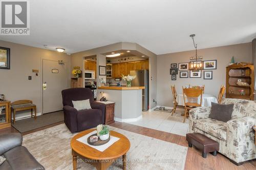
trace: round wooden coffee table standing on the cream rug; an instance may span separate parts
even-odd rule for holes
[[[89,145],[76,140],[92,131],[95,131],[95,129],[82,131],[72,138],[70,145],[72,148],[73,169],[76,169],[77,156],[86,160],[84,162],[95,166],[96,169],[106,169],[115,162],[117,158],[122,156],[123,169],[126,169],[126,153],[130,149],[131,145],[129,139],[118,132],[111,131],[111,136],[115,136],[120,139],[105,151],[100,152]]]

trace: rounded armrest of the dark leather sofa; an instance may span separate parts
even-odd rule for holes
[[[5,152],[22,145],[22,134],[8,133],[0,135],[0,155]]]

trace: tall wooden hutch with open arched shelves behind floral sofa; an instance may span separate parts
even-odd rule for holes
[[[246,85],[238,84],[238,80]],[[243,90],[243,92],[241,92]],[[226,98],[254,100],[254,66],[235,63],[226,68]]]

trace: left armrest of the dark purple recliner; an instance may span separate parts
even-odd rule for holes
[[[77,132],[77,114],[78,111],[71,107],[71,106],[64,106],[63,107],[64,112],[64,121],[69,130],[74,133]]]

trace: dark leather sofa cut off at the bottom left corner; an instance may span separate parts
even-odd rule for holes
[[[0,170],[44,170],[26,147],[22,146],[20,133],[0,135],[0,155],[6,160],[0,165]]]

